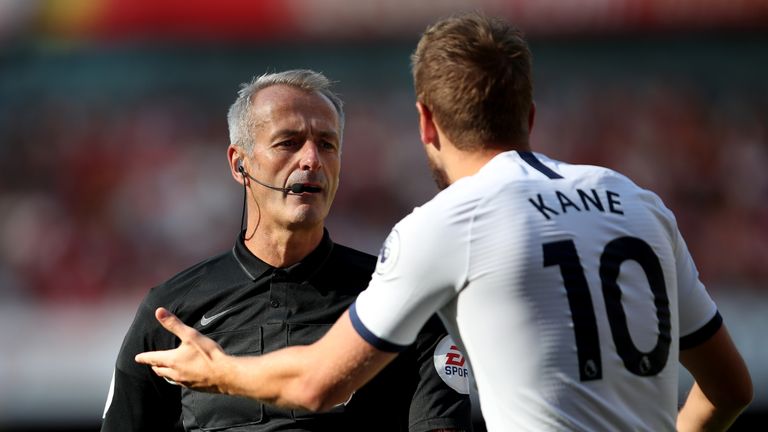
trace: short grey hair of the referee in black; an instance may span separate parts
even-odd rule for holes
[[[320,72],[309,69],[293,69],[284,72],[265,73],[240,85],[237,99],[229,107],[227,113],[229,142],[232,145],[241,147],[246,152],[251,152],[253,140],[250,132],[258,123],[258,119],[251,116],[251,99],[259,90],[280,84],[307,92],[318,92],[325,96],[336,109],[339,118],[339,144],[341,144],[341,137],[344,132],[344,105],[341,99],[331,91],[332,82]]]

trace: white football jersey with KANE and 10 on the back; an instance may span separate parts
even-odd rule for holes
[[[385,350],[437,312],[490,431],[674,430],[680,346],[722,322],[658,196],[531,152],[400,221],[350,312]]]

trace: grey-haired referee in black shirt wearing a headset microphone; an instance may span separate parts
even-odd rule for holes
[[[160,306],[228,354],[263,354],[318,340],[371,278],[376,258],[335,244],[324,229],[344,128],[342,103],[326,77],[291,70],[254,79],[243,85],[228,122],[229,165],[244,187],[246,228],[231,250],[142,301],[117,359],[102,431],[470,429],[466,385],[456,382],[467,378],[436,370],[434,356],[453,345],[436,317],[377,379],[324,413],[191,391],[134,362],[140,352],[178,345],[154,318]]]

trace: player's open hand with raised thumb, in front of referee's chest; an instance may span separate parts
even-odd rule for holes
[[[219,373],[224,370],[227,354],[221,346],[185,325],[165,308],[158,308],[155,317],[166,330],[181,339],[181,344],[172,350],[137,354],[136,362],[152,366],[157,375],[172,384],[222,393]]]

